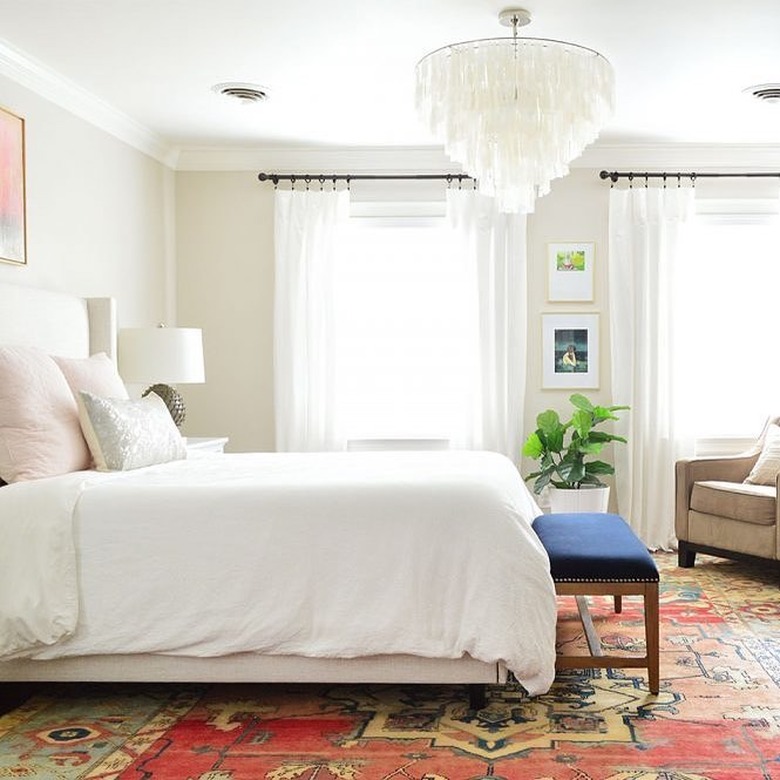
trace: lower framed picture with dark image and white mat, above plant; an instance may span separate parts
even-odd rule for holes
[[[542,315],[542,387],[599,386],[599,315]]]

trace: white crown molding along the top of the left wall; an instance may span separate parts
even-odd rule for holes
[[[176,150],[140,122],[0,40],[0,74],[158,162],[175,167]]]

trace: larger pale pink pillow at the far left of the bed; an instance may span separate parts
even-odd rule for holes
[[[78,408],[43,351],[0,347],[0,479],[52,477],[90,467]]]

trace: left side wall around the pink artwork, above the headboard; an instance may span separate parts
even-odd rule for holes
[[[28,249],[0,280],[112,295],[120,325],[169,315],[172,172],[4,77],[0,106],[26,123]]]

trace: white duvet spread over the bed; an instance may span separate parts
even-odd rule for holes
[[[0,657],[503,661],[554,677],[540,510],[487,452],[247,453],[0,489]]]

